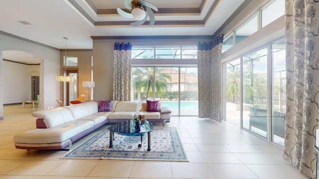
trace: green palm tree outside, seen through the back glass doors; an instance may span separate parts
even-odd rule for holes
[[[170,76],[160,73],[161,68],[136,68],[133,72],[135,89],[138,93],[145,92],[148,99],[149,93],[154,92],[154,70],[155,70],[155,89],[162,92],[167,91],[167,80]]]

